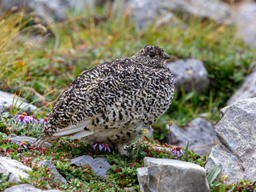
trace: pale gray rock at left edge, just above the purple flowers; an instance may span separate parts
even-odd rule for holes
[[[2,90],[0,90],[0,112],[1,109],[3,111],[4,108],[8,108],[11,106],[12,102],[13,102],[13,98],[14,98],[14,94],[10,94],[7,92],[4,92]],[[14,102],[16,101],[16,99],[18,98],[18,96],[16,95]],[[19,104],[23,101],[23,98],[18,98],[18,102],[16,104],[16,106],[19,106]],[[22,105],[20,106],[20,108],[25,107],[26,108],[24,110],[37,110],[37,107],[34,105],[29,105],[27,102],[23,102]]]

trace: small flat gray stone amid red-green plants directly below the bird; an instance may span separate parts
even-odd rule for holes
[[[105,162],[105,158],[91,158],[91,156],[83,155],[71,159],[71,164],[75,164],[76,166],[85,166],[87,163],[90,164],[96,175],[107,176],[106,172],[110,169],[110,164]]]

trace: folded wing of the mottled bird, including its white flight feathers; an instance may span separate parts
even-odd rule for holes
[[[120,70],[117,74],[109,77],[98,78],[87,87],[87,95],[84,101],[80,102],[71,118],[71,125],[59,130],[55,136],[63,136],[63,133],[72,132],[71,138],[84,138],[94,134],[101,129],[122,129],[129,123],[128,111],[131,111],[133,96],[145,93],[144,82],[140,78],[143,72],[136,68]],[[81,88],[83,90],[83,88]],[[83,94],[83,91],[80,92]],[[142,103],[142,102],[141,102]],[[140,103],[140,104],[141,104]],[[131,103],[130,103],[131,104]],[[145,103],[144,103],[145,104]],[[127,107],[128,105],[129,107]],[[146,105],[146,104],[145,104]],[[140,118],[142,113],[133,109],[132,114]],[[86,125],[83,123],[86,122]],[[83,124],[83,126],[81,126]],[[75,127],[74,127],[75,126]],[[73,127],[71,129],[71,127]],[[74,134],[75,133],[75,134]]]

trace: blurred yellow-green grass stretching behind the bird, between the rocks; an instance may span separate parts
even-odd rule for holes
[[[216,122],[218,115],[213,109],[219,110],[226,105],[226,100],[254,66],[250,64],[256,51],[235,38],[234,26],[221,26],[200,18],[186,21],[186,27],[184,24],[172,28],[162,26],[161,29],[149,26],[137,32],[126,14],[118,19],[108,10],[79,16],[71,12],[67,21],[46,28],[33,25],[35,21],[31,15],[17,20],[20,14],[22,12],[3,16],[8,25],[5,24],[5,38],[0,40],[5,47],[0,62],[4,69],[0,83],[3,90],[14,91],[20,87],[19,82],[27,78],[25,90],[31,90],[28,87],[32,86],[30,101],[39,98],[36,104],[46,106],[47,111],[52,101],[83,70],[116,58],[130,57],[141,47],[154,44],[164,47],[174,59],[200,59],[211,80],[209,89],[203,94],[176,96],[167,115],[171,114],[178,126],[184,126],[201,113],[208,113],[208,119]],[[23,33],[28,38],[30,30],[35,29],[37,33],[43,31],[44,37],[47,35],[47,42],[39,47],[15,38]],[[10,52],[12,54],[8,54]],[[51,91],[47,97],[39,97]],[[26,95],[26,91],[23,94]]]

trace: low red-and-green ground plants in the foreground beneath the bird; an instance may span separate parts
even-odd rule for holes
[[[139,186],[136,168],[144,166],[143,159],[147,156],[181,159],[197,163],[200,166],[205,165],[205,156],[199,156],[194,154],[193,151],[185,150],[185,155],[177,158],[172,154],[172,151],[161,150],[161,146],[171,147],[168,144],[161,144],[145,138],[128,146],[129,156],[120,156],[116,149],[112,149],[111,153],[104,150],[100,151],[98,148],[93,150],[91,146],[78,139],[62,138],[53,142],[53,146],[50,148],[34,147],[26,142],[22,144],[10,142],[9,137],[12,135],[38,137],[42,132],[42,128],[42,124],[28,122],[25,125],[22,122],[18,123],[16,117],[4,118],[2,116],[2,122],[0,122],[0,130],[2,132],[0,133],[0,155],[13,158],[26,166],[30,166],[33,171],[28,172],[30,177],[23,178],[22,182],[31,183],[41,189],[57,187],[59,190],[64,191],[125,191],[125,188],[132,187],[137,191]],[[71,166],[70,159],[83,154],[91,155],[93,158],[106,158],[112,165],[107,172],[109,175],[106,178],[100,178],[94,174],[89,165],[84,167]],[[40,167],[38,162],[43,160],[54,162],[59,174],[62,174],[67,179],[67,184],[55,179],[49,168]],[[8,178],[6,178],[5,174],[0,174],[0,180],[2,180],[0,190],[14,185],[12,182],[7,182]]]

